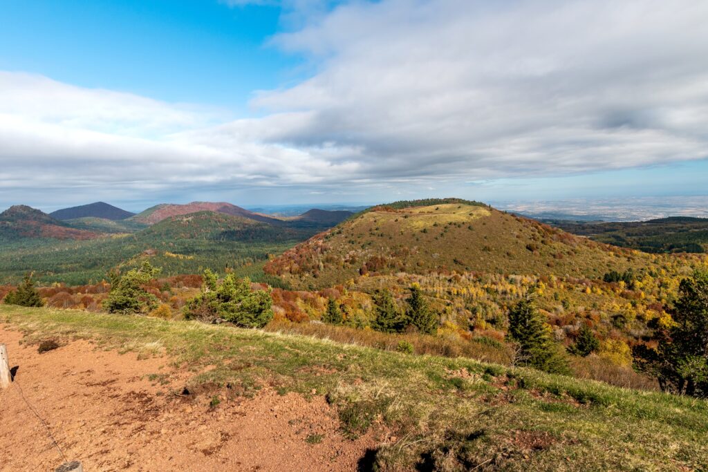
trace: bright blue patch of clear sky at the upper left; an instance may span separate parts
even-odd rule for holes
[[[77,86],[241,113],[253,91],[297,76],[297,58],[265,45],[280,27],[275,6],[45,0],[5,1],[0,11],[2,69]]]

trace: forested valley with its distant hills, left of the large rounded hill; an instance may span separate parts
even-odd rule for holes
[[[96,209],[86,205],[62,212],[75,217],[86,207]],[[107,219],[98,207],[94,216],[63,221],[12,207],[0,214],[0,283],[16,282],[30,271],[46,283],[99,282],[111,268],[136,267],[146,258],[166,275],[212,267],[262,280],[261,267],[270,255],[349,216],[334,212],[322,219],[329,212],[319,210],[319,219],[307,214],[285,220],[222,203],[158,207],[123,219]]]

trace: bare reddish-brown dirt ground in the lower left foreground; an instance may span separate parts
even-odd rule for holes
[[[375,445],[372,437],[345,439],[321,397],[261,391],[211,408],[206,395],[165,395],[187,378],[171,372],[166,357],[139,360],[85,341],[40,355],[21,338],[0,326],[16,383],[86,472],[355,471]],[[0,391],[0,470],[53,471],[61,463],[17,389]]]

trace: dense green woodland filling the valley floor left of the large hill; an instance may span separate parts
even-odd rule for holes
[[[269,257],[324,229],[312,221],[276,227],[214,212],[169,217],[152,226],[105,219],[81,224],[91,231],[110,227],[115,234],[83,241],[0,234],[0,280],[17,282],[31,271],[42,283],[89,284],[103,280],[110,268],[138,267],[146,258],[166,275],[211,267],[272,280],[261,270]]]

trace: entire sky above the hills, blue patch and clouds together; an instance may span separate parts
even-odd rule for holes
[[[0,207],[708,195],[708,2],[0,0]]]

